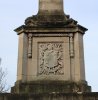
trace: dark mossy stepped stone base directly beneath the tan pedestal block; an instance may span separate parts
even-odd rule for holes
[[[16,82],[12,93],[76,93],[90,92],[91,87],[86,82],[74,83],[68,81],[32,81],[27,83]]]

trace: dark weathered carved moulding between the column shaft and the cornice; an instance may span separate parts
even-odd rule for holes
[[[75,27],[77,21],[69,18],[68,15],[38,15],[28,17],[25,20],[26,26],[32,27]]]

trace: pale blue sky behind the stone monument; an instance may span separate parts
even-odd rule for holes
[[[78,21],[88,31],[84,35],[86,81],[92,91],[98,91],[98,0],[64,0],[65,14]],[[0,1],[1,67],[7,69],[7,84],[12,87],[17,76],[18,35],[14,29],[27,17],[37,14],[38,0]]]

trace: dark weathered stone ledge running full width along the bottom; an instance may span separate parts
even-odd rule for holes
[[[98,92],[89,93],[44,93],[0,94],[0,100],[98,100]]]

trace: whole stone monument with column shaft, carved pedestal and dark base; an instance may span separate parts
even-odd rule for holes
[[[39,0],[39,11],[15,29],[19,36],[14,93],[87,92],[83,35],[64,14],[63,0]]]

